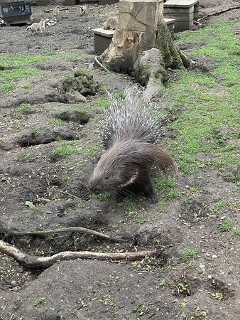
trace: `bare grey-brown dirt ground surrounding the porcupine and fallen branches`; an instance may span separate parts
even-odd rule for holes
[[[200,0],[200,16],[238,3]],[[36,21],[43,13],[50,17],[44,10],[53,7],[33,6]],[[93,62],[91,28],[102,26],[117,10],[118,4],[91,4],[85,16],[78,16],[77,9],[61,11],[58,23],[36,37],[26,26],[0,27],[0,53],[74,53],[34,61],[30,66],[38,74],[31,80],[18,79],[16,90],[0,94],[1,239],[38,256],[67,250],[153,248],[161,254],[138,262],[72,260],[46,270],[29,270],[0,253],[0,319],[239,319],[239,242],[219,228],[221,219],[228,218],[237,226],[238,211],[236,206],[221,208],[219,221],[211,207],[214,199],[236,202],[239,198],[227,171],[198,169],[180,174],[180,196],[168,200],[165,208],[145,198],[132,207],[132,203],[121,206],[111,198],[89,196],[89,174],[102,151],[97,128],[106,103],[104,89],[123,92],[131,78],[89,69],[99,90],[84,103],[66,103],[62,79]],[[220,17],[237,19],[239,12]],[[210,70],[209,65],[206,68]],[[19,116],[17,108],[23,104],[28,107]],[[67,112],[71,116],[62,119]],[[196,186],[200,190],[192,203]],[[77,226],[126,242],[79,233],[9,235],[14,230]]]

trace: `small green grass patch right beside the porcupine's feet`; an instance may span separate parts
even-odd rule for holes
[[[178,184],[173,178],[168,178],[164,174],[158,174],[156,178],[153,178],[153,188],[156,194],[163,193],[163,197],[167,200],[173,200],[180,194]]]

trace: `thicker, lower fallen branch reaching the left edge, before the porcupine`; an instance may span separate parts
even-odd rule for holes
[[[30,268],[47,269],[55,262],[70,259],[97,259],[97,260],[129,260],[135,261],[143,259],[144,257],[152,257],[158,255],[157,250],[139,251],[139,252],[117,252],[117,253],[101,253],[89,251],[65,251],[57,253],[51,257],[37,257],[28,255],[27,253],[19,250],[13,245],[0,240],[0,251],[6,255],[10,255],[22,265]]]

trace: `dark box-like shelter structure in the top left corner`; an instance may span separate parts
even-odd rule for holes
[[[4,4],[0,2],[0,17],[4,20],[6,26],[17,23],[28,23],[31,14],[30,2],[18,1]]]

